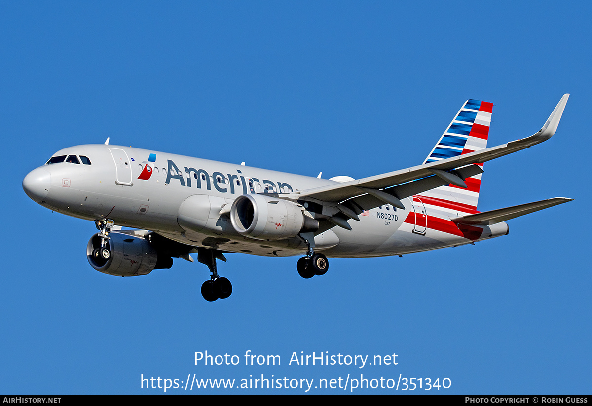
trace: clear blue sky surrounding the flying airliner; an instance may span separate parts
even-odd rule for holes
[[[0,392],[163,392],[141,389],[142,375],[362,374],[449,378],[440,393],[590,393],[591,14],[589,2],[0,3]],[[361,178],[423,162],[468,98],[494,103],[494,146],[535,133],[565,93],[551,140],[485,164],[479,209],[575,201],[475,246],[333,259],[310,280],[297,257],[228,254],[226,301],[202,299],[209,273],[197,263],[96,272],[85,256],[94,224],[21,188],[55,151],[107,137]],[[205,350],[241,363],[195,365]],[[281,365],[244,365],[247,350]],[[288,365],[294,352],[396,353],[397,365]],[[167,391],[181,392],[304,390]]]

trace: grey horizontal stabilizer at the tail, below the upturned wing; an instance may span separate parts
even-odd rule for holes
[[[506,207],[503,209],[484,211],[477,214],[468,214],[461,217],[452,218],[456,224],[466,225],[492,225],[510,220],[514,217],[529,214],[535,211],[543,210],[558,204],[570,202],[573,199],[565,197],[555,197],[552,199],[540,200],[538,202],[519,204],[517,206]]]

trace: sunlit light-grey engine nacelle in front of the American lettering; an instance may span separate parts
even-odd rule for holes
[[[318,230],[318,221],[304,215],[300,205],[265,195],[242,195],[230,209],[234,230],[257,240],[283,240]]]

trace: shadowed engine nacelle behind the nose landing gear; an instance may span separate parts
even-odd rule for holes
[[[173,265],[171,257],[159,258],[155,247],[142,237],[111,232],[107,247],[110,251],[108,259],[96,254],[95,250],[101,248],[101,236],[95,234],[86,245],[86,258],[92,268],[109,275],[147,275],[153,269],[168,269]]]

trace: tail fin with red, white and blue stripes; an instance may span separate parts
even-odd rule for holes
[[[492,108],[493,104],[490,102],[467,100],[423,163],[487,148]],[[465,183],[466,189],[451,183],[423,192],[420,198],[424,204],[446,208],[448,211],[456,211],[459,214],[475,213],[481,186],[481,173],[466,178]]]

